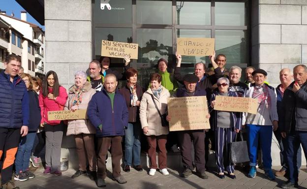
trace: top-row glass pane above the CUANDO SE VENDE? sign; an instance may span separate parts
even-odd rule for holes
[[[177,24],[211,25],[211,2],[177,1]]]

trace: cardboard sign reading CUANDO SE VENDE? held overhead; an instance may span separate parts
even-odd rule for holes
[[[214,38],[177,38],[177,53],[180,55],[205,57],[213,55]]]

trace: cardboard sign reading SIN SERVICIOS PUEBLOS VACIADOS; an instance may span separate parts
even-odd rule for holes
[[[102,40],[101,56],[138,59],[139,44]]]

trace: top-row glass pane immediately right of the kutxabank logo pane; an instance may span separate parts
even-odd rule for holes
[[[172,1],[137,0],[137,24],[172,24]]]

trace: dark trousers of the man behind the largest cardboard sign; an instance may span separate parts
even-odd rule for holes
[[[178,132],[178,140],[181,149],[181,157],[184,167],[193,170],[191,155],[192,143],[194,146],[194,162],[197,172],[204,172],[205,168],[205,130],[186,130]]]

